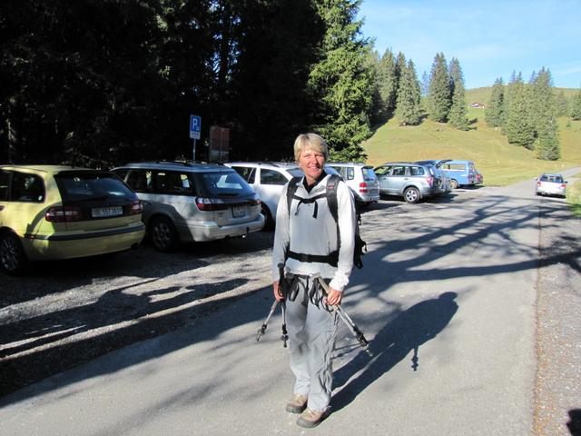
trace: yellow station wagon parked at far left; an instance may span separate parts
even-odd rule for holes
[[[0,165],[0,267],[137,248],[142,203],[114,173],[56,165]]]

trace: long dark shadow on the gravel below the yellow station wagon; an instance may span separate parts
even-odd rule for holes
[[[246,282],[248,279],[231,279],[189,286],[186,292],[169,287],[141,295],[125,292],[136,285],[126,286],[105,292],[92,304],[3,324],[0,338],[7,346],[0,354],[0,396],[106,352],[190,325],[192,320],[246,295],[199,304],[197,300],[234,290]],[[177,294],[154,298],[172,292]],[[94,331],[99,333],[82,340],[66,339]],[[36,339],[23,343],[30,338]],[[53,345],[61,341],[62,345]]]

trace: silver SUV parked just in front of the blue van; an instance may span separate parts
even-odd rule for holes
[[[389,162],[374,169],[379,179],[379,193],[397,195],[408,203],[444,193],[442,181],[433,165]]]

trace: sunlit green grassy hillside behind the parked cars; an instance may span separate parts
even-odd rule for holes
[[[486,104],[490,89],[468,91],[467,102]],[[581,121],[559,119],[562,157],[551,162],[537,160],[534,152],[508,144],[506,136],[487,126],[484,114],[484,109],[468,110],[468,119],[472,121],[468,132],[429,120],[418,126],[400,127],[392,119],[363,143],[367,162],[375,166],[389,161],[468,159],[484,174],[485,183],[494,186],[516,183],[542,172],[581,166]]]

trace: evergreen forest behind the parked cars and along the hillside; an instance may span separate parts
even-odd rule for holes
[[[468,128],[458,59],[436,54],[419,82],[412,60],[379,55],[360,34],[359,4],[5,0],[0,162],[189,158],[190,114],[202,117],[199,160],[211,125],[230,129],[231,159],[254,160],[289,159],[306,131],[327,139],[334,160],[364,160],[361,144],[394,117],[402,127],[428,117]],[[541,73],[545,97],[556,99]],[[522,145],[536,146],[541,134],[555,145],[550,120],[527,124],[533,145]]]

